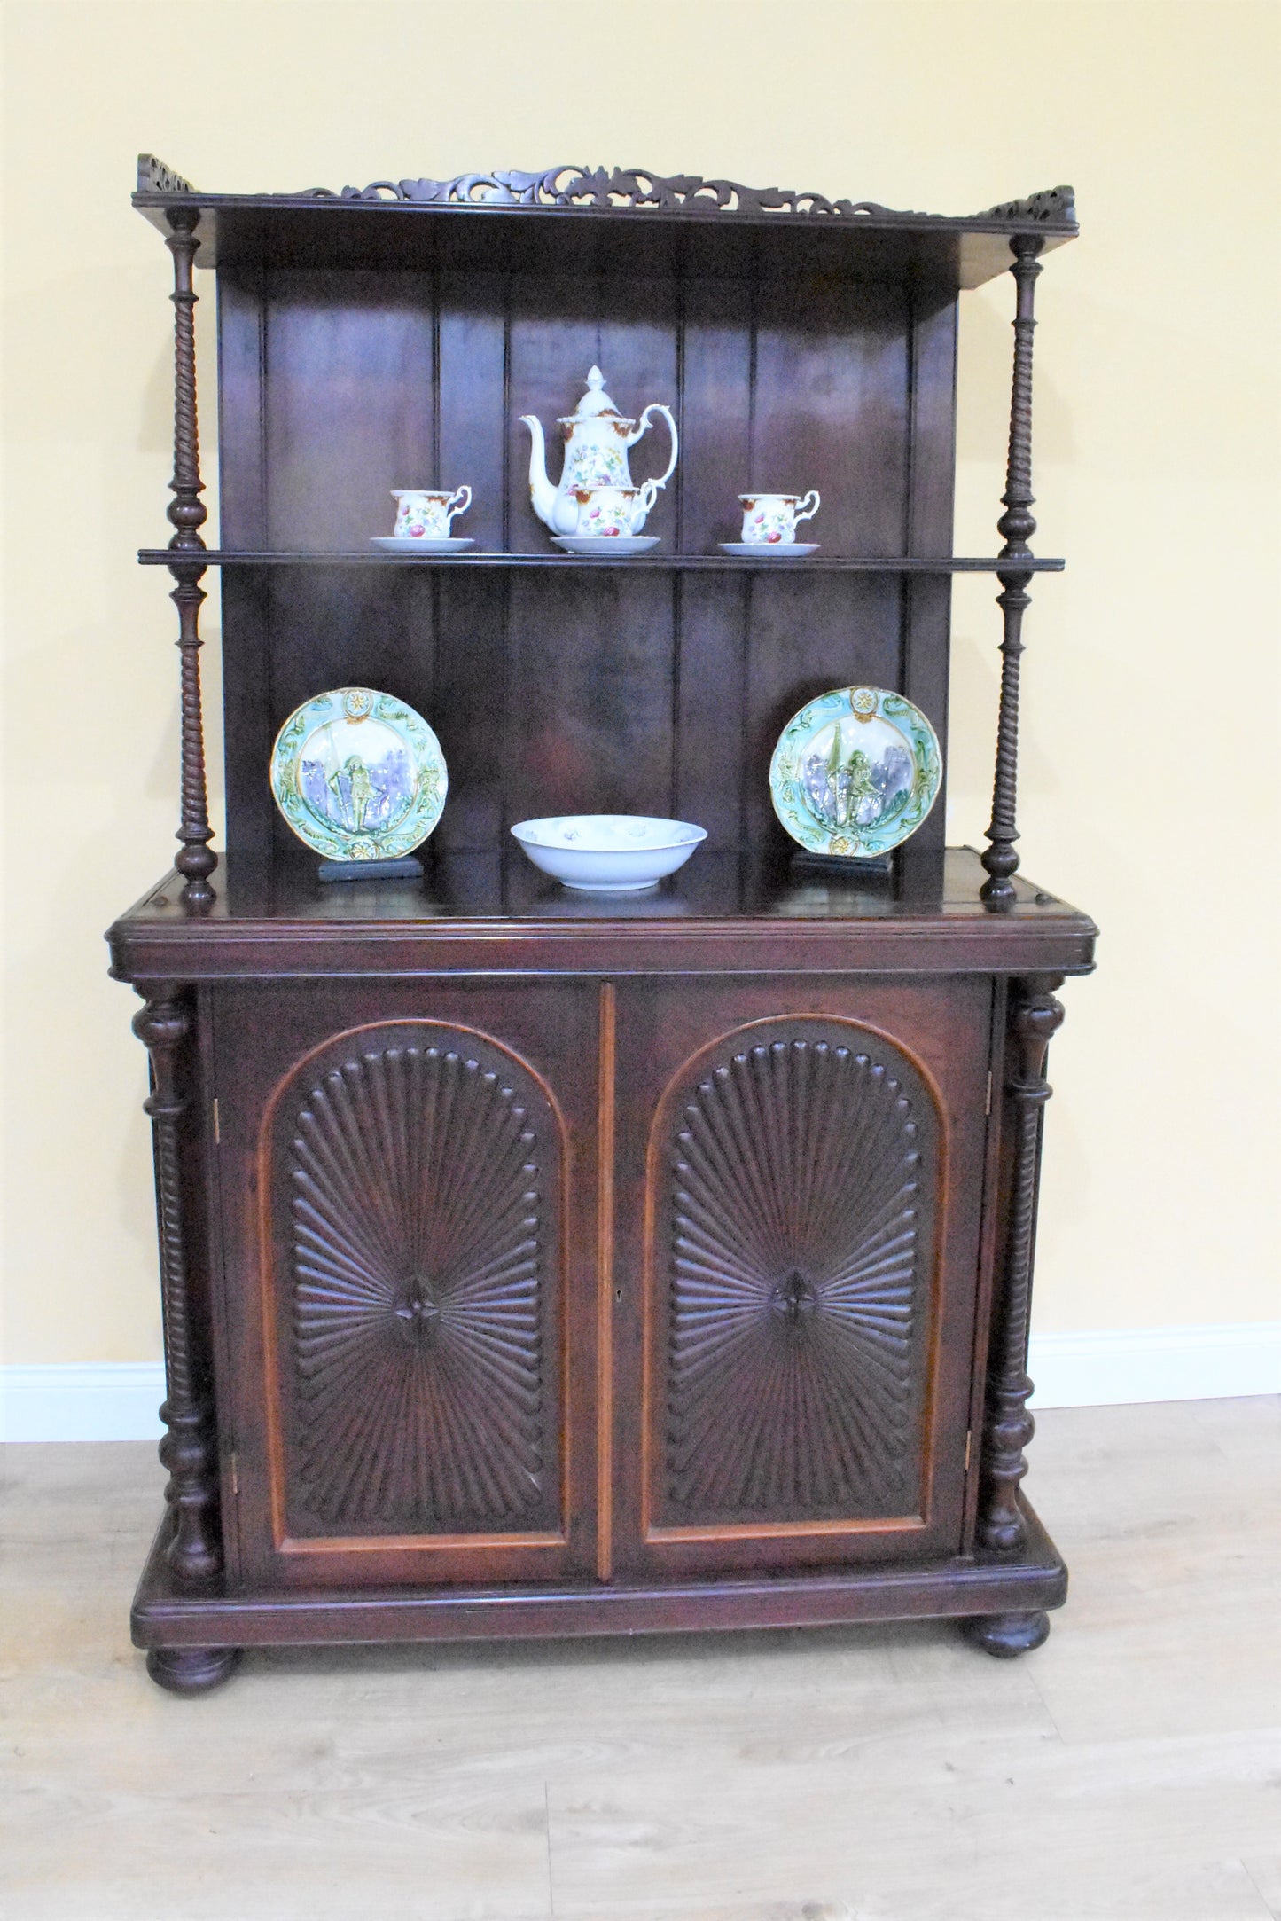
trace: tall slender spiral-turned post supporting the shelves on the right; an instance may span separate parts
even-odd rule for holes
[[[1018,674],[1024,651],[1022,626],[1027,607],[1027,582],[1031,572],[1020,569],[1022,559],[1031,557],[1027,542],[1037,530],[1031,517],[1031,336],[1035,332],[1035,286],[1041,273],[1037,259],[1043,242],[1035,234],[1016,234],[1010,240],[1014,252],[1014,282],[1018,286],[1018,305],[1014,313],[1014,386],[1010,392],[1010,453],[1004,474],[1004,494],[1001,503],[1004,513],[997,521],[997,532],[1004,546],[997,559],[1003,565],[997,572],[1001,594],[1003,636],[1001,636],[1001,718],[997,720],[997,772],[991,795],[991,826],[987,828],[989,847],[981,861],[987,868],[981,895],[989,909],[1003,911],[1014,905],[1014,874],[1018,872],[1018,826],[1014,811],[1018,803]]]

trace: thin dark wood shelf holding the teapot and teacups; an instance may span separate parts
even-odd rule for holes
[[[632,572],[774,572],[774,574],[1060,574],[1062,559],[1003,561],[974,555],[910,555],[899,559],[866,559],[834,555],[810,559],[745,559],[732,553],[643,553],[630,559],[580,553],[388,553],[386,549],[355,549],[340,553],[311,551],[250,551],[238,547],[140,547],[142,567],[553,567],[570,569],[626,567]]]

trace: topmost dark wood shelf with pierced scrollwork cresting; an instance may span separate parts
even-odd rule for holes
[[[762,273],[809,259],[870,275],[930,271],[955,286],[979,286],[1008,269],[1012,236],[1037,234],[1051,250],[1077,232],[1070,186],[943,215],[643,167],[576,165],[342,190],[205,194],[140,154],[134,206],[165,234],[173,213],[196,211],[200,267],[419,259],[494,267],[519,263],[530,248],[545,250],[553,223],[557,250],[584,265],[626,265],[643,252],[653,271]]]

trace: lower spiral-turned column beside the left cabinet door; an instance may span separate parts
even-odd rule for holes
[[[182,1214],[181,1122],[186,1112],[186,1089],[181,1060],[190,1037],[190,1010],[181,989],[171,985],[154,989],[134,1014],[133,1030],[152,1057],[152,1093],[142,1106],[152,1120],[156,1143],[167,1385],[159,1418],[169,1429],[159,1443],[159,1458],[169,1470],[165,1500],[173,1508],[173,1539],[165,1558],[186,1587],[205,1587],[221,1573],[223,1556],[217,1541],[213,1423],[194,1347],[192,1276]]]

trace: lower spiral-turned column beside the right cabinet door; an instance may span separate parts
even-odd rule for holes
[[[1018,1487],[1027,1473],[1024,1448],[1035,1433],[1035,1422],[1027,1414],[1027,1397],[1031,1395],[1027,1318],[1031,1312],[1041,1128],[1045,1103],[1052,1093],[1045,1078],[1045,1057],[1064,1018],[1062,1003],[1054,999],[1054,989],[1060,985],[1062,974],[1031,974],[1010,987],[1014,1074],[1004,1091],[1012,1108],[1014,1156],[1004,1264],[987,1368],[983,1495],[979,1502],[979,1541],[985,1548],[999,1550],[1014,1550],[1024,1543]]]

